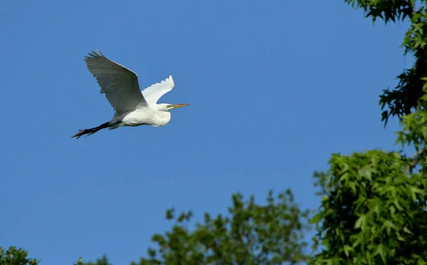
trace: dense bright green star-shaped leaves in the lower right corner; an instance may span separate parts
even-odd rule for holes
[[[427,178],[407,167],[399,153],[332,156],[330,171],[317,174],[325,190],[317,240],[325,249],[315,264],[427,264]]]

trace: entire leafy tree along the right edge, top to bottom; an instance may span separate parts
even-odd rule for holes
[[[398,76],[394,90],[384,90],[379,103],[384,124],[390,117],[401,121],[396,143],[413,146],[416,153],[334,154],[329,171],[315,173],[322,204],[312,222],[315,244],[323,249],[312,263],[427,264],[427,1],[344,2],[373,21],[411,22],[402,45],[415,63]]]

